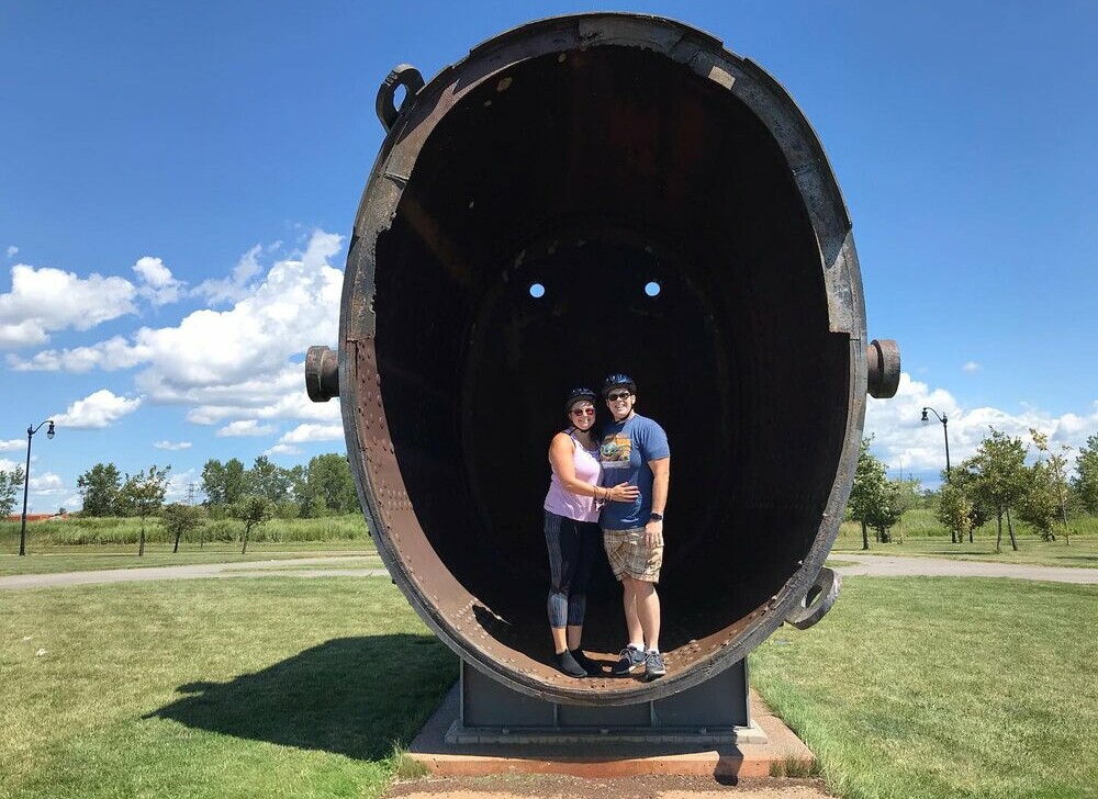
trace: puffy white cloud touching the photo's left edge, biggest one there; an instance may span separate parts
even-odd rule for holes
[[[0,347],[44,344],[49,333],[88,330],[136,312],[136,290],[123,278],[72,272],[25,263],[11,268],[11,292],[0,294]]]

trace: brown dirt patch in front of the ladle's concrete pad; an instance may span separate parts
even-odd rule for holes
[[[386,799],[829,799],[819,779],[732,779],[645,775],[583,779],[557,774],[424,778],[397,783]]]

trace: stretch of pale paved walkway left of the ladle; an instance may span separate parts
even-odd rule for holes
[[[372,559],[371,559],[372,560]],[[324,569],[334,563],[360,562],[361,569]],[[376,561],[374,561],[376,562]],[[55,574],[16,574],[0,577],[2,588],[45,588],[55,585],[93,583],[137,583],[147,579],[206,579],[210,577],[384,577],[384,569],[366,566],[366,558],[288,558],[276,561],[236,563],[195,563],[188,566],[149,566],[147,569],[104,569],[98,572],[58,572]]]

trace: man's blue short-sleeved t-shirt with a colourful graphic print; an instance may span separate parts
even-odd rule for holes
[[[670,458],[668,434],[646,416],[634,414],[603,430],[598,461],[603,466],[602,485],[613,488],[629,483],[640,488],[631,503],[606,503],[598,516],[604,530],[629,530],[648,524],[652,513],[652,470],[649,461]]]

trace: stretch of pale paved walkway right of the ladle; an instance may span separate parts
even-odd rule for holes
[[[1080,569],[1078,566],[953,561],[946,558],[862,555],[853,552],[832,552],[831,559],[851,561],[858,564],[837,567],[836,571],[843,577],[861,575],[871,577],[1013,577],[1016,579],[1046,579],[1054,583],[1098,585],[1098,569]]]

